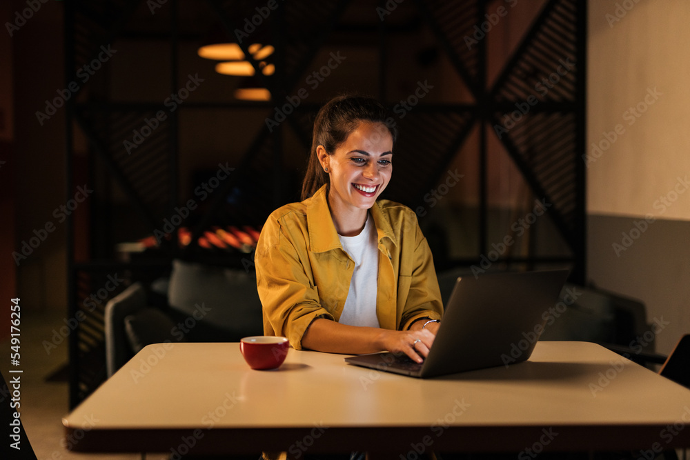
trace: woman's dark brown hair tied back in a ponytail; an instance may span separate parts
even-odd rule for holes
[[[390,112],[376,99],[355,95],[342,95],[328,101],[316,114],[309,161],[302,181],[302,200],[311,197],[324,183],[330,183],[328,174],[319,163],[318,146],[324,146],[329,155],[337,149],[362,121],[383,123],[397,139],[397,129]]]

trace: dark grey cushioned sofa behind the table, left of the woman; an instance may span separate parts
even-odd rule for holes
[[[105,326],[108,377],[152,343],[237,342],[261,335],[256,277],[176,259],[169,279],[133,283],[110,299]]]

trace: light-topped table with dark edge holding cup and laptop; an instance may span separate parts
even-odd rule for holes
[[[63,418],[79,452],[525,452],[690,447],[690,390],[586,342],[435,379],[290,349],[251,370],[238,343],[148,346]],[[299,454],[299,455],[296,455]],[[408,458],[414,458],[413,456]]]

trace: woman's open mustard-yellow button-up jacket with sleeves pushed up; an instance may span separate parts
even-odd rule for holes
[[[314,319],[339,319],[355,268],[338,239],[326,190],[272,212],[255,253],[264,334],[287,337],[296,350]],[[441,319],[431,250],[417,216],[388,200],[377,201],[370,212],[379,241],[380,327],[405,330],[415,319]]]

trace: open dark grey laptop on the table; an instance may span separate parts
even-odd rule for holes
[[[423,363],[391,352],[345,361],[422,379],[526,361],[568,274],[538,270],[459,277]]]

